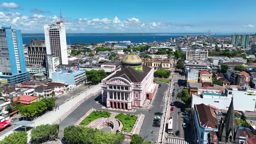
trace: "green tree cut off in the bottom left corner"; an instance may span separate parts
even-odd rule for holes
[[[14,132],[6,137],[0,144],[26,144],[27,143],[27,133],[25,131]]]

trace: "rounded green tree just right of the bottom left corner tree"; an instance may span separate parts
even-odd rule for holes
[[[59,133],[59,124],[42,124],[31,131],[31,140],[36,144],[56,139]]]

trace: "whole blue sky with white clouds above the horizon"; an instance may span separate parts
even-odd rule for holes
[[[0,26],[43,33],[256,32],[256,0],[0,0]]]

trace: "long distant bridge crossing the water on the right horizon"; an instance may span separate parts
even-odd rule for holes
[[[233,34],[256,34],[256,33],[168,33],[171,36],[231,36]]]

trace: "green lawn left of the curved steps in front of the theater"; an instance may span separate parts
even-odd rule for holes
[[[93,111],[88,117],[86,117],[79,125],[87,125],[91,121],[97,119],[97,118],[108,118],[110,117],[111,113],[108,111]]]

